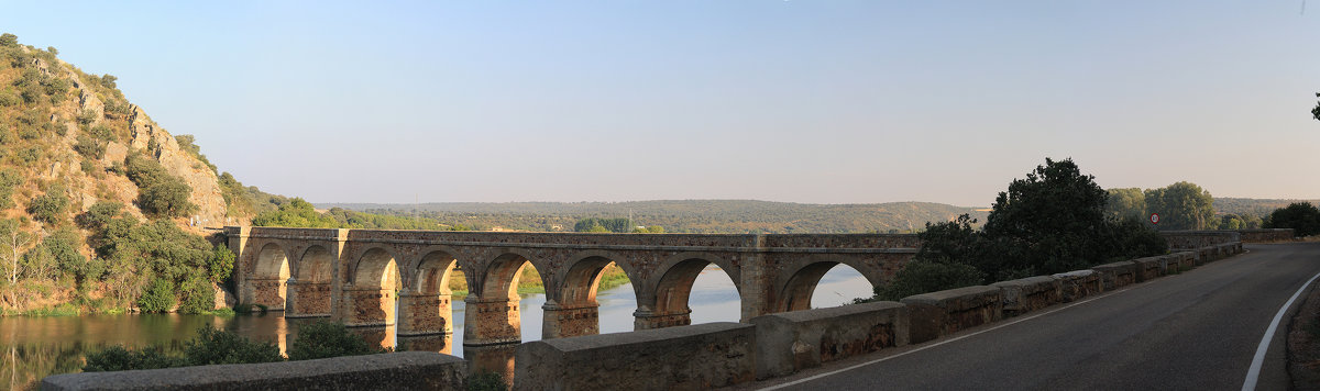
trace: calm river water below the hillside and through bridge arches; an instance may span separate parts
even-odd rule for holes
[[[821,279],[812,298],[812,307],[836,307],[850,303],[854,298],[870,296],[871,284],[861,274],[849,267],[834,267]],[[632,311],[636,298],[632,286],[624,284],[597,295],[601,303],[601,333],[632,330]],[[545,295],[523,296],[521,323],[523,341],[541,338],[541,305]],[[422,337],[403,338],[392,336],[392,330],[376,334],[385,346],[400,346],[407,350],[434,350],[454,355],[465,353],[463,344],[463,300],[453,300],[454,334],[449,338]],[[738,321],[741,305],[738,291],[733,282],[718,267],[710,266],[701,273],[689,298],[692,323]],[[77,373],[83,366],[86,352],[96,352],[106,346],[164,346],[168,350],[182,350],[183,341],[195,336],[202,325],[236,330],[253,340],[271,341],[286,349],[297,337],[298,325],[315,319],[284,319],[280,313],[238,315],[218,317],[209,315],[88,315],[62,317],[0,317],[0,388],[29,388],[50,374]],[[381,336],[383,333],[383,336]],[[503,354],[508,355],[508,350]],[[480,354],[480,352],[477,352]]]

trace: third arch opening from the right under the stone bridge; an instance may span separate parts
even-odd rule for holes
[[[599,317],[602,303],[598,300],[598,294],[602,288],[611,290],[631,282],[627,273],[612,259],[602,255],[578,259],[562,274],[562,279],[558,294],[549,295],[556,301],[545,305],[544,338],[590,336],[599,334],[602,330],[632,330],[631,319],[603,323]],[[627,295],[624,291],[632,295]],[[638,300],[634,290],[619,290],[612,296],[620,300],[609,303],[611,307],[636,308]]]

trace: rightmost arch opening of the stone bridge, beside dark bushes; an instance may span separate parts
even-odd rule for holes
[[[788,278],[776,311],[838,307],[873,295],[874,286],[853,266],[832,261],[813,262]]]

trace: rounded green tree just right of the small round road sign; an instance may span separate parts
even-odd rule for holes
[[[1146,208],[1159,213],[1159,229],[1213,229],[1214,197],[1191,182],[1146,191]]]

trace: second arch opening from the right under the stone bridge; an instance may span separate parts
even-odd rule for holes
[[[636,329],[711,321],[738,321],[742,299],[734,276],[719,265],[689,258],[665,270],[656,284],[651,313],[640,313]]]

